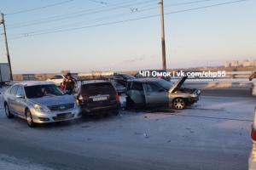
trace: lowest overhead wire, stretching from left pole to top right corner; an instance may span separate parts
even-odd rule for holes
[[[208,5],[208,6],[204,6],[204,7],[198,7],[198,8],[183,9],[183,10],[179,10],[179,11],[175,11],[175,12],[165,13],[165,15],[183,13],[183,12],[193,11],[193,10],[197,10],[197,9],[201,9],[201,8],[212,8],[212,7],[227,5],[227,4],[230,4],[230,3],[241,3],[241,2],[245,2],[245,1],[247,1],[247,0],[239,0],[239,1],[229,2],[229,3],[218,3],[218,4],[213,4],[213,5]],[[47,32],[43,32],[43,33],[34,33],[34,34],[26,35],[26,37],[45,35],[45,34],[51,34],[51,33],[63,32],[63,31],[80,30],[80,29],[91,28],[91,27],[96,27],[96,26],[108,26],[108,25],[113,25],[113,24],[133,21],[133,20],[143,20],[143,19],[153,18],[153,17],[157,17],[157,16],[160,16],[160,14],[154,14],[154,15],[150,15],[150,16],[146,16],[146,17],[140,17],[140,18],[137,18],[137,19],[119,20],[119,21],[114,21],[114,22],[109,22],[109,23],[99,24],[99,25],[94,25],[94,26],[82,26],[82,27],[77,27],[77,28],[65,29],[65,30],[61,30],[61,31],[47,31]],[[22,37],[24,37],[24,36],[22,36]],[[22,38],[22,37],[20,36],[20,37],[9,38],[9,40],[10,39]]]

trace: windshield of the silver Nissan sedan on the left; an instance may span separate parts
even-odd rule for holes
[[[27,86],[25,87],[25,93],[28,99],[64,95],[61,88],[55,86],[55,84]]]

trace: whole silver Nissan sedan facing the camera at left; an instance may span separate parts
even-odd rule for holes
[[[3,105],[8,118],[26,119],[29,127],[37,123],[61,122],[79,118],[79,100],[64,94],[52,82],[19,82],[3,94]]]

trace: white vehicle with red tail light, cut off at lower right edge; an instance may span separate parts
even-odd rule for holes
[[[252,149],[250,156],[248,158],[248,169],[255,170],[256,169],[256,107],[254,108],[254,116],[253,116],[253,124],[251,126],[251,141],[252,141]]]

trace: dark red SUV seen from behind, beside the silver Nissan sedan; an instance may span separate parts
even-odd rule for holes
[[[104,80],[78,82],[78,87],[72,95],[79,99],[84,115],[107,112],[112,112],[113,115],[119,114],[119,94],[111,82]]]

